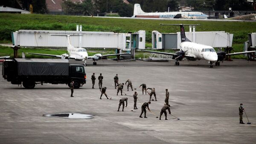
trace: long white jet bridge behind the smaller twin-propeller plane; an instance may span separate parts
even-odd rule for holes
[[[71,45],[82,48],[113,48],[131,50],[145,48],[145,31],[131,34],[96,31],[44,31],[19,30],[12,32],[12,43],[15,46],[31,48],[66,48],[67,38],[50,35],[83,35],[70,37]],[[81,39],[81,40],[80,40]],[[130,40],[126,47],[127,41]]]

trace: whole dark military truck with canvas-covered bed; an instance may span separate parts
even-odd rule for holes
[[[35,88],[36,84],[67,84],[71,80],[74,88],[86,83],[83,65],[70,64],[68,59],[5,59],[2,69],[3,78],[13,85]]]

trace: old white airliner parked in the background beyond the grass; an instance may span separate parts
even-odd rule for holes
[[[132,17],[145,18],[170,18],[170,19],[207,19],[208,15],[197,11],[173,11],[173,12],[144,12],[140,4],[134,4],[134,15]]]

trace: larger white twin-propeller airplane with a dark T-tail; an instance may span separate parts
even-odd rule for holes
[[[158,51],[146,51],[146,50],[137,50],[137,51],[146,51],[151,53],[157,53],[157,54],[166,54],[166,55],[172,55],[172,59],[175,59],[175,65],[180,65],[178,62],[183,60],[183,58],[186,58],[188,60],[207,60],[209,61],[210,68],[212,68],[212,64],[215,62],[215,65],[220,65],[220,61],[223,62],[225,56],[230,55],[236,55],[236,54],[248,54],[248,53],[255,53],[256,51],[244,51],[244,52],[238,52],[233,54],[226,54],[224,51],[216,52],[214,48],[212,48],[209,45],[202,45],[195,42],[191,42],[188,38],[186,38],[185,31],[184,31],[184,25],[183,24],[160,24],[160,25],[180,25],[180,51],[177,51],[176,53],[165,53],[165,52],[158,52]],[[189,24],[188,24],[189,25]]]

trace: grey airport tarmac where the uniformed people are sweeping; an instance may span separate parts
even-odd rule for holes
[[[0,64],[0,71],[2,65]],[[209,68],[206,61],[183,61],[180,66],[171,62],[117,62],[101,60],[85,67],[87,83],[74,90],[70,97],[67,85],[36,85],[27,90],[0,78],[0,143],[17,144],[218,144],[256,143],[256,62],[234,59],[221,66]],[[98,80],[92,89],[92,73],[104,76],[103,87],[111,96],[100,100]],[[133,108],[133,93],[116,96],[113,77],[119,82],[131,79],[141,102],[149,96],[142,95],[142,83],[155,88],[157,102],[149,108],[159,117],[164,105],[165,89],[170,92],[171,112],[167,119],[156,119],[147,111],[139,118],[141,104],[133,112],[125,107],[119,111],[119,99],[128,97],[128,107]],[[150,90],[149,90],[150,91]],[[239,124],[239,106],[244,104],[251,124]],[[121,107],[122,108],[122,107]],[[44,117],[50,113],[84,113],[92,119],[64,119]],[[245,113],[244,123],[247,123]]]

